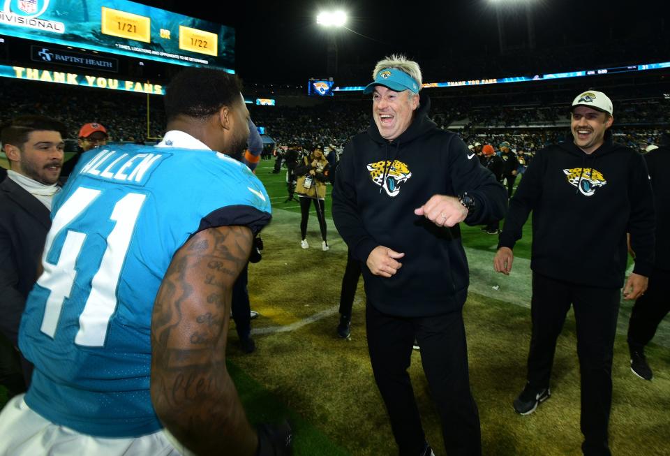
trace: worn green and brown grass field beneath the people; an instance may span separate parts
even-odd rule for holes
[[[395,455],[396,446],[368,360],[362,281],[352,316],[352,337],[339,339],[338,299],[346,246],[331,220],[329,244],[320,249],[312,207],[310,249],[300,248],[299,207],[286,198],[285,173],[271,174],[261,161],[257,175],[273,205],[273,221],[262,233],[263,259],[250,265],[252,323],[258,350],[241,351],[231,329],[229,369],[252,422],[288,417],[295,429],[295,455]],[[523,388],[530,340],[530,227],[514,249],[509,277],[493,273],[496,236],[462,226],[470,263],[470,294],[464,309],[470,381],[479,406],[484,455],[580,455],[579,364],[570,312],[558,339],[551,399],[520,416],[512,400]],[[438,286],[438,284],[436,284]],[[614,455],[670,454],[670,328],[662,323],[647,349],[654,380],[630,372],[625,342],[632,303],[622,302],[613,362],[614,395],[610,443]],[[421,366],[412,353],[410,376],[426,437],[444,455],[440,421]],[[0,401],[3,400],[0,390]]]

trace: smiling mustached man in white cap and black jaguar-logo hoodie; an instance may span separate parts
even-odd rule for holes
[[[654,261],[654,206],[640,154],[612,142],[612,103],[588,90],[572,102],[573,141],[537,152],[509,203],[497,272],[512,270],[514,243],[533,212],[533,270],[526,388],[514,400],[521,415],[549,399],[556,339],[572,304],[581,375],[584,455],[610,455],[612,353],[630,232],[635,267],[624,287],[634,300],[647,288]]]

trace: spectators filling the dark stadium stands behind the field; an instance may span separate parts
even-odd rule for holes
[[[17,90],[26,84],[26,90]],[[59,84],[0,80],[5,109],[0,124],[22,112],[40,115],[59,113],[69,128],[68,138],[77,138],[78,128],[87,122],[101,122],[110,133],[110,142],[135,142],[162,138],[165,116],[163,99],[150,97],[149,135],[147,135],[147,96],[99,89],[77,89]],[[48,90],[46,90],[48,88]],[[610,90],[611,92],[612,90]],[[617,110],[616,141],[643,152],[657,141],[670,125],[670,101],[641,93],[639,89],[620,89],[622,100]],[[616,91],[615,91],[616,93]],[[658,91],[655,92],[656,94]],[[569,133],[567,108],[555,101],[560,94],[536,91],[528,97],[523,91],[511,94],[470,96],[461,92],[432,96],[431,112],[440,128],[456,130],[461,138],[497,146],[503,140],[514,149],[535,152],[544,145],[559,142]],[[529,99],[530,98],[530,99]],[[91,101],[94,101],[91,103]],[[342,147],[359,131],[367,128],[370,101],[338,98],[313,106],[250,106],[251,117],[278,145],[300,145],[310,152],[315,145]]]

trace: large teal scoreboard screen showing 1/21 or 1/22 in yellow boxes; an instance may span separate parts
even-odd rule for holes
[[[233,73],[234,29],[127,0],[1,0],[0,35]]]

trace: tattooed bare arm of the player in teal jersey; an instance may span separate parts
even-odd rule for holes
[[[163,425],[200,455],[254,455],[249,425],[225,366],[232,285],[251,230],[209,228],[172,258],[151,321],[151,400]]]

